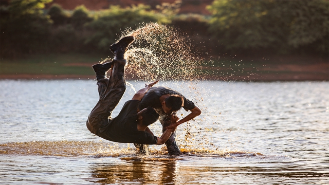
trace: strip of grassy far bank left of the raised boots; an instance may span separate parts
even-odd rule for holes
[[[17,76],[71,76],[88,78],[94,76],[91,65],[101,61],[97,55],[87,54],[48,54],[34,55],[26,59],[2,60],[1,78]]]

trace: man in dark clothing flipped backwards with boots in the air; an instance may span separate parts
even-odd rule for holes
[[[123,143],[163,144],[175,129],[169,128],[161,137],[156,137],[148,125],[154,123],[159,115],[151,107],[139,111],[138,105],[141,98],[158,81],[140,89],[132,100],[125,102],[119,115],[111,118],[113,109],[118,105],[125,91],[124,67],[126,60],[123,58],[126,48],[134,41],[133,36],[122,38],[118,43],[110,46],[115,54],[112,62],[95,64],[99,101],[89,114],[87,128],[93,134],[106,140]],[[111,68],[111,70],[109,70]],[[109,70],[109,79],[106,72]],[[175,123],[177,117],[172,116]]]

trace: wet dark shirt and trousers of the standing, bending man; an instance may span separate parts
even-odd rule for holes
[[[170,115],[166,114],[163,112],[162,105],[160,102],[160,97],[163,95],[179,95],[184,99],[184,105],[182,106],[186,111],[191,110],[195,107],[195,104],[190,101],[189,99],[185,98],[182,96],[180,93],[177,91],[170,89],[168,87],[152,87],[147,94],[143,97],[139,104],[139,109],[142,110],[143,108],[151,106],[154,108],[159,116],[159,121],[162,125],[162,132],[165,132],[165,127],[169,126],[171,121],[170,121]],[[166,146],[168,149],[168,154],[170,155],[178,155],[180,154],[179,147],[176,144],[176,132],[174,132],[170,138],[166,141]],[[139,147],[140,150],[143,150],[143,145],[135,145]]]

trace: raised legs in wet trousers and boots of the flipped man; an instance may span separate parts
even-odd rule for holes
[[[121,39],[117,43],[120,47],[116,48],[115,59],[112,61],[111,65],[106,63],[93,66],[96,72],[100,99],[88,116],[87,128],[90,132],[96,135],[98,135],[97,132],[99,131],[99,128],[108,123],[108,117],[112,115],[113,109],[118,105],[125,91],[124,67],[126,60],[123,59],[123,54],[126,47],[133,42],[133,38],[129,38],[128,41],[124,39],[125,38]],[[129,43],[124,42],[122,44],[122,40],[123,42],[126,41]],[[109,79],[106,78],[106,71],[108,68],[106,68],[105,65],[112,67]]]

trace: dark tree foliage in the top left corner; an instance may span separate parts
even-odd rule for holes
[[[50,17],[43,12],[51,0],[10,1],[2,7],[1,56],[20,57],[22,54],[45,50],[49,35]]]

